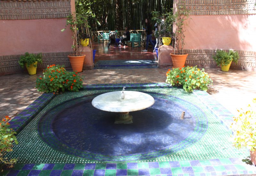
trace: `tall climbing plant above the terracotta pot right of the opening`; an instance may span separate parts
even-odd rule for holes
[[[184,39],[185,39],[185,31],[186,26],[189,23],[189,11],[184,3],[177,4],[177,10],[174,13],[173,17],[173,28],[175,30],[174,37],[174,53],[175,54],[184,54]],[[176,50],[178,51],[176,53]]]

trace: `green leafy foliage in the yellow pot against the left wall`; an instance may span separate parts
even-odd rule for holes
[[[34,67],[37,66],[35,62],[42,63],[42,53],[33,54],[26,52],[25,55],[20,56],[19,64],[20,67],[24,68],[25,64],[29,67],[31,64],[33,64]]]

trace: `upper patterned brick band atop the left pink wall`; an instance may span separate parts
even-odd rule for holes
[[[70,12],[70,0],[0,1],[0,20],[66,18]]]

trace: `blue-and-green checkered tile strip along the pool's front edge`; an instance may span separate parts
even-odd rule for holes
[[[210,176],[255,174],[256,167],[238,158],[147,162],[147,163],[87,163],[87,164],[16,164],[1,174],[39,176]]]

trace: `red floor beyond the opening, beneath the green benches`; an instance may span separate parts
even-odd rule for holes
[[[153,53],[151,46],[148,47],[148,52],[142,52],[145,47],[116,47],[110,45],[108,48],[107,42],[94,42],[92,48],[96,49],[95,62],[99,60],[157,60],[156,53]]]

